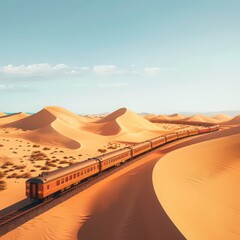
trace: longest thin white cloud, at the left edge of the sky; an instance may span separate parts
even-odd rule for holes
[[[5,76],[53,76],[59,74],[80,74],[88,71],[89,67],[73,67],[66,64],[50,65],[48,63],[31,65],[7,65],[0,67],[0,73]]]

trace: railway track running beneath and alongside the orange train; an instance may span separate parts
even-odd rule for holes
[[[199,135],[197,135],[199,136]],[[188,137],[189,138],[189,137]],[[181,140],[181,139],[180,139]],[[177,140],[178,141],[178,140]],[[175,142],[175,141],[173,141]],[[169,142],[167,144],[171,144],[172,142]],[[2,217],[0,217],[0,237],[7,232],[15,229],[16,227],[22,225],[23,223],[31,220],[32,218],[48,211],[52,207],[66,201],[67,199],[73,197],[74,195],[84,191],[85,189],[89,188],[90,186],[96,184],[97,182],[103,180],[104,178],[114,174],[115,172],[118,172],[119,170],[128,167],[129,165],[135,163],[136,161],[141,160],[145,156],[158,151],[161,147],[166,146],[160,145],[159,147],[150,150],[148,152],[145,152],[130,161],[124,162],[124,164],[121,164],[119,166],[116,166],[114,168],[110,168],[94,177],[91,177],[89,179],[86,179],[82,181],[80,184],[65,190],[64,192],[61,192],[51,198],[45,199],[42,202],[32,202],[26,206],[23,206],[17,210],[11,211]]]

